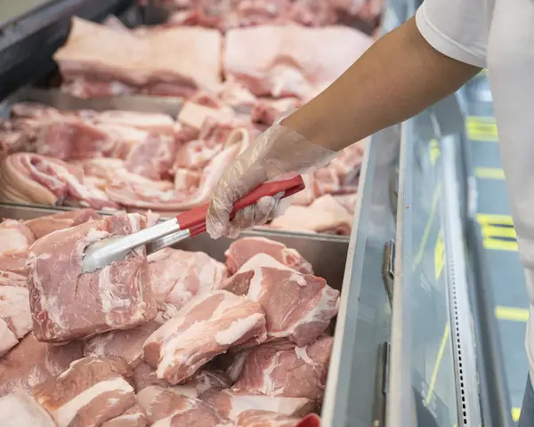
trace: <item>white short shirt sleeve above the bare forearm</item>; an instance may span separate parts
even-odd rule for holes
[[[417,28],[433,48],[449,58],[486,67],[488,0],[425,0]]]

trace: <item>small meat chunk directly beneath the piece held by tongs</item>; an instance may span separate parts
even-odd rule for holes
[[[84,356],[118,356],[135,367],[142,360],[142,344],[159,326],[152,321],[134,329],[95,335],[84,342]]]

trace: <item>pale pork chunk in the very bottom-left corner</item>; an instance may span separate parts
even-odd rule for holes
[[[52,417],[26,392],[8,394],[0,398],[2,427],[57,427]]]

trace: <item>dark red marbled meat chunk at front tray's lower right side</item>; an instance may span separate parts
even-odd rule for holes
[[[322,336],[305,347],[266,342],[251,350],[232,391],[306,398],[320,403],[327,383],[334,338]]]

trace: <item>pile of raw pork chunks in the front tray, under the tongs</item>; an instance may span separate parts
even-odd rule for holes
[[[134,250],[82,273],[85,246],[158,215],[92,209],[0,223],[0,425],[292,427],[320,410],[339,292],[266,238]]]

